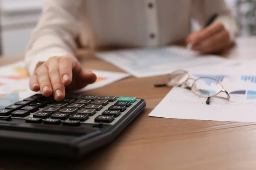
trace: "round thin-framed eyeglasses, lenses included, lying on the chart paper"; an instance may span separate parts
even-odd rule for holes
[[[189,80],[192,80],[192,85],[189,85]],[[167,75],[166,82],[163,84],[155,84],[155,87],[163,86],[185,86],[186,89],[192,91],[195,95],[202,98],[207,98],[207,105],[210,103],[211,97],[229,100],[230,95],[223,88],[223,85],[216,79],[211,77],[199,77],[197,79],[189,76],[189,73],[184,70],[177,70]],[[218,96],[224,93],[226,97]]]

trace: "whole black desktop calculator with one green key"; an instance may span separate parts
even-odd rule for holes
[[[0,109],[0,150],[80,159],[111,142],[144,109],[126,96],[32,95]]]

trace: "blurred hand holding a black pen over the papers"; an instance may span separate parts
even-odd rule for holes
[[[213,15],[204,28],[189,35],[186,39],[188,49],[201,53],[214,53],[231,45],[230,34],[223,23],[215,21],[217,17],[217,14]]]

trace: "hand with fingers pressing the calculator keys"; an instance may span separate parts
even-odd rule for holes
[[[51,57],[35,69],[29,86],[32,91],[41,91],[43,96],[54,95],[60,101],[66,90],[77,90],[96,81],[96,75],[84,70],[73,56]]]

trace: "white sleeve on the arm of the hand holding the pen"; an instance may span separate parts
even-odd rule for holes
[[[221,21],[231,39],[234,40],[238,34],[239,27],[236,18],[232,15],[231,10],[227,7],[224,0],[192,0],[192,15],[204,26],[212,14],[218,14],[216,21]]]

